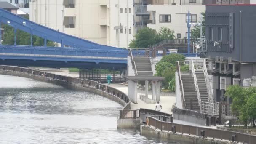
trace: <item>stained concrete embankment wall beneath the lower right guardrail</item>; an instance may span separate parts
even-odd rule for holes
[[[141,134],[143,136],[151,136],[164,141],[178,141],[181,144],[232,144],[232,142],[229,141],[221,141],[217,139],[201,138],[188,134],[186,135],[182,133],[161,131],[147,125],[141,125]]]

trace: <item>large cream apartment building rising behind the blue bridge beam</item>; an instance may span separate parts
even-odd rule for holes
[[[132,0],[32,0],[30,20],[102,45],[128,48]]]

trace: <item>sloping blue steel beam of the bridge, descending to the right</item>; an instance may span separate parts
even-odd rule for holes
[[[107,45],[99,45],[88,40],[84,40],[72,35],[67,35],[62,32],[50,29],[48,27],[37,24],[28,19],[24,19],[16,14],[10,13],[4,9],[0,9],[0,23],[5,23],[9,21],[10,25],[16,29],[20,29],[24,32],[36,35],[38,37],[45,38],[47,40],[54,41],[56,43],[61,43],[62,45],[68,45],[79,49],[103,49],[103,50],[119,50],[127,51],[121,48],[115,48]]]

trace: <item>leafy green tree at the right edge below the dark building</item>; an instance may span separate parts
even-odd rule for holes
[[[243,88],[238,85],[229,86],[225,96],[232,98],[231,111],[246,126],[256,120],[256,87]]]

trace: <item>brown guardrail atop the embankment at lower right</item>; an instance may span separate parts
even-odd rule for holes
[[[157,120],[154,117],[148,117],[148,125],[160,129],[161,131],[172,131],[173,133],[185,133],[198,137],[207,137],[219,140],[227,140],[234,142],[241,142],[243,144],[255,144],[256,136],[245,133],[238,133],[234,131],[225,131],[212,128],[197,127],[191,125],[182,125],[177,123],[170,123]],[[232,139],[233,138],[233,139]],[[236,138],[236,139],[234,139]]]

